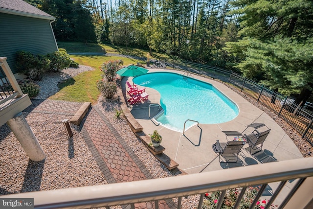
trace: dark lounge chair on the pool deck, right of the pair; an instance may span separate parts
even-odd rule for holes
[[[249,143],[249,150],[250,150],[251,155],[254,155],[262,151],[263,143],[265,139],[268,137],[269,132],[270,132],[270,129],[265,130],[263,132],[259,132],[257,129],[255,129],[251,134],[244,135],[244,138]],[[253,153],[251,149],[254,151]]]

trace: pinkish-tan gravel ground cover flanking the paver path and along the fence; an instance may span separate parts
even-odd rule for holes
[[[78,69],[68,68],[59,74],[48,73],[44,80],[38,82],[41,86],[41,92],[36,98],[48,98],[58,91],[58,82],[74,77],[86,70],[92,70],[92,68],[80,66]],[[283,127],[303,156],[312,155],[311,144],[301,139],[301,136],[284,120],[245,94],[236,89],[233,90],[265,111]],[[116,110],[119,110],[116,99],[108,100],[100,96],[97,105],[155,178],[172,176],[172,173],[159,163],[140,140],[134,136],[126,120],[116,118]],[[46,159],[43,162],[30,161],[9,127],[7,125],[1,126],[0,195],[107,184],[80,134],[79,127],[71,124],[74,136],[72,139],[68,139],[61,122],[66,118],[65,116],[38,113],[23,113],[23,116],[25,116],[44,149]],[[182,198],[182,208],[197,208],[198,200],[199,195]]]

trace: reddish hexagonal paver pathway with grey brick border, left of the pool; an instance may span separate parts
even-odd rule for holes
[[[73,116],[83,104],[32,99],[32,105],[24,112]],[[81,128],[81,134],[109,184],[153,178],[97,106],[90,108],[89,113],[82,121]],[[129,209],[130,206],[123,206],[124,208]],[[135,208],[151,209],[154,208],[154,203],[135,204]],[[159,209],[171,208],[177,208],[172,200],[159,201]]]

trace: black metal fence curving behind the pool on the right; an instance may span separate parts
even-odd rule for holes
[[[176,60],[160,60],[159,62],[167,68],[186,70],[198,75],[208,76],[239,89],[272,110],[277,116],[282,117],[303,139],[313,145],[313,111],[300,108],[299,105],[293,103],[294,99],[273,92],[233,71]]]

